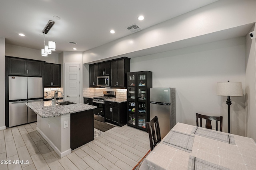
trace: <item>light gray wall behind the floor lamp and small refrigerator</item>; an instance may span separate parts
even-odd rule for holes
[[[196,125],[196,112],[222,115],[228,132],[227,97],[216,95],[216,83],[241,81],[245,88],[245,42],[238,37],[137,57],[130,70],[152,71],[153,87],[176,88],[176,122]],[[244,136],[244,96],[231,100],[231,133]]]

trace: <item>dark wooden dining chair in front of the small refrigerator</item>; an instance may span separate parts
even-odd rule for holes
[[[146,127],[148,130],[150,149],[152,151],[154,147],[156,147],[156,145],[161,141],[161,134],[157,116],[155,116],[151,121],[146,122]]]

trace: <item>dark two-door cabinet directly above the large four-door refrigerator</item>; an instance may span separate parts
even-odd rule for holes
[[[43,61],[9,58],[9,74],[42,76]]]

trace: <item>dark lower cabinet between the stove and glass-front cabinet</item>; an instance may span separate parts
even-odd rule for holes
[[[114,125],[127,124],[126,102],[117,103],[105,101],[105,120]]]

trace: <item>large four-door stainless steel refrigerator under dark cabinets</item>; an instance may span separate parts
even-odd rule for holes
[[[36,121],[36,113],[25,104],[43,99],[42,77],[9,76],[9,127]]]

